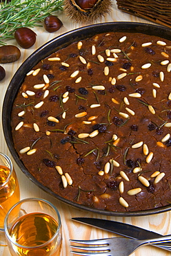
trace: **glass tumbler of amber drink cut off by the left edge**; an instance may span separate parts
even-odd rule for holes
[[[8,210],[20,199],[19,183],[6,154],[0,152],[0,245],[6,245],[3,222]]]

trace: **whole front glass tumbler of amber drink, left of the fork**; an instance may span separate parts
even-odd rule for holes
[[[52,203],[34,198],[21,200],[6,215],[4,227],[12,256],[60,255],[61,218]]]

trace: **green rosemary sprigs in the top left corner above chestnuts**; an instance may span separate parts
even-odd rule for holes
[[[43,19],[52,12],[63,10],[63,0],[11,0],[0,2],[0,44],[14,38],[14,30],[21,27],[42,26]]]

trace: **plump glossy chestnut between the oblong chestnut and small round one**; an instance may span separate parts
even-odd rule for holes
[[[37,34],[30,28],[17,28],[14,37],[22,48],[30,48],[36,42]]]

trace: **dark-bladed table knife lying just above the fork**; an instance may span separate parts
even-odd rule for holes
[[[144,228],[139,228],[127,223],[122,223],[118,221],[110,221],[108,219],[95,219],[95,218],[86,218],[86,217],[75,217],[72,218],[74,221],[79,221],[81,223],[94,226],[96,228],[101,228],[110,232],[114,232],[117,235],[122,235],[124,237],[130,237],[132,239],[150,239],[156,237],[163,237],[163,235],[150,230],[145,230]],[[165,243],[170,246],[170,243]],[[152,244],[153,245],[153,244]],[[154,244],[154,246],[163,248],[164,244]],[[165,247],[164,246],[164,247]]]

